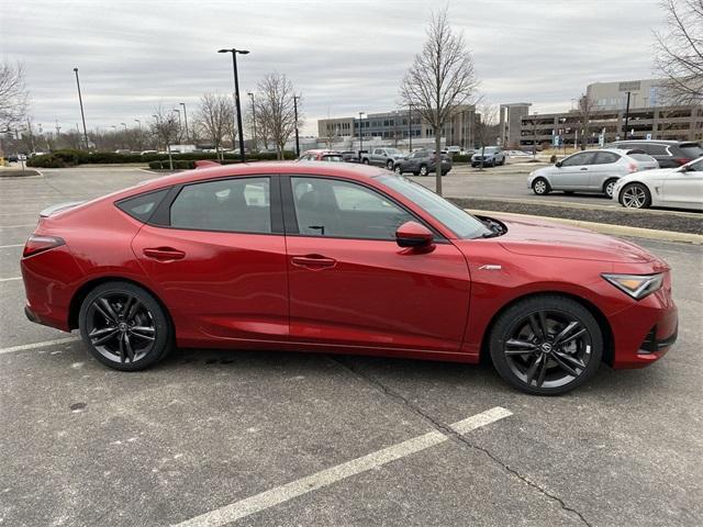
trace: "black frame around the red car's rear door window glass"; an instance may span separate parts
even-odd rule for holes
[[[214,181],[227,181],[227,180],[242,180],[242,179],[263,179],[269,180],[269,213],[271,232],[270,233],[253,233],[250,231],[223,231],[217,228],[193,228],[193,227],[175,227],[171,225],[170,211],[171,205],[180,194],[185,187],[200,183],[211,183]],[[163,189],[159,189],[163,190]],[[158,220],[156,223],[154,220]],[[223,176],[219,178],[201,179],[197,181],[189,181],[179,184],[175,184],[170,188],[169,192],[164,197],[156,211],[152,214],[152,217],[147,222],[148,225],[159,228],[168,228],[174,231],[190,231],[190,232],[203,232],[203,233],[226,233],[226,234],[252,234],[256,236],[281,236],[283,234],[283,216],[281,211],[281,193],[280,193],[280,178],[277,173],[247,173],[243,176]]]

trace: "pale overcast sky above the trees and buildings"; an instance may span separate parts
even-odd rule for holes
[[[269,71],[303,96],[304,132],[316,120],[392,110],[425,40],[436,1],[0,0],[0,56],[21,60],[32,114],[44,130],[80,121],[79,68],[89,128],[136,125],[163,102],[194,113],[203,92],[232,91],[230,55],[245,93]],[[657,0],[448,2],[493,103],[568,110],[595,81],[652,76]]]

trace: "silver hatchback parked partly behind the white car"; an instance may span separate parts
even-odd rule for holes
[[[562,190],[566,193],[596,192],[611,198],[615,182],[623,176],[656,168],[659,168],[657,160],[641,150],[584,150],[531,172],[527,187],[537,195]]]

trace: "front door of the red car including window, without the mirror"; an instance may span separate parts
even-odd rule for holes
[[[359,182],[282,180],[292,341],[457,351],[469,309],[466,260],[449,242],[398,246],[419,221]]]

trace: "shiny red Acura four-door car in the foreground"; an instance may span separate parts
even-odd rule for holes
[[[387,170],[207,167],[42,213],[31,321],[138,370],[174,346],[478,362],[529,393],[638,368],[677,336],[667,264],[627,242],[476,217]]]

